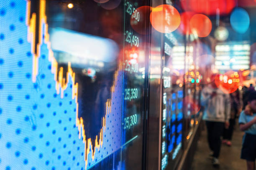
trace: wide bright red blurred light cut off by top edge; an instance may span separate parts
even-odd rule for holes
[[[227,15],[236,5],[235,0],[182,0],[181,4],[185,11],[206,15]]]

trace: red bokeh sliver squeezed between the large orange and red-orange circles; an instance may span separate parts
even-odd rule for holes
[[[195,15],[194,12],[184,12],[180,15],[180,25],[178,28],[179,32],[181,32],[184,35],[192,33],[189,26],[189,22],[193,15]]]

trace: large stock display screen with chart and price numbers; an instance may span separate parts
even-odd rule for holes
[[[141,169],[146,1],[102,2],[0,3],[1,170]]]

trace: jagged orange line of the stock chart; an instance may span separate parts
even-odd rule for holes
[[[51,72],[54,74],[54,79],[56,81],[56,91],[59,94],[61,93],[61,97],[63,97],[64,90],[67,88],[67,85],[69,83],[69,74],[71,75],[71,81],[72,81],[72,98],[75,98],[77,109],[76,109],[76,125],[79,130],[79,139],[83,138],[84,143],[84,160],[85,160],[85,168],[87,168],[88,163],[88,155],[90,153],[90,148],[92,148],[92,139],[89,138],[86,140],[85,130],[84,130],[84,120],[82,117],[78,116],[78,102],[77,102],[77,89],[78,89],[78,83],[75,82],[75,73],[73,72],[71,68],[70,62],[68,63],[68,71],[67,71],[67,81],[63,78],[63,67],[60,67],[59,70],[59,77],[57,77],[57,71],[58,71],[58,62],[54,58],[53,51],[51,50],[51,43],[49,42],[49,34],[48,34],[48,25],[46,23],[47,17],[45,14],[46,10],[46,0],[40,0],[40,12],[39,12],[39,43],[37,44],[37,53],[35,53],[35,35],[36,35],[36,14],[33,13],[32,17],[30,16],[30,7],[31,7],[31,1],[27,1],[27,25],[28,25],[28,42],[31,42],[31,53],[33,54],[33,82],[36,82],[36,76],[38,75],[38,57],[40,56],[40,47],[43,43],[47,45],[47,48],[49,49],[49,61],[51,62]],[[43,29],[44,28],[44,29]],[[44,35],[44,36],[43,36]],[[44,37],[44,38],[43,38]],[[44,42],[43,42],[44,40]],[[114,82],[113,86],[110,89],[111,92],[111,98],[113,97],[113,93],[115,91],[115,86],[117,82],[118,72],[121,70],[121,67],[118,68],[118,70],[114,74]],[[102,128],[100,129],[100,137],[98,138],[98,135],[96,135],[95,138],[95,147],[91,149],[92,152],[92,160],[94,160],[95,157],[95,150],[96,148],[100,150],[100,146],[102,147],[103,144],[103,132],[105,132],[106,128],[106,115],[111,112],[111,98],[105,102],[105,117],[102,117]]]

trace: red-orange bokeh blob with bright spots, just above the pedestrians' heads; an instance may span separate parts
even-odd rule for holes
[[[215,84],[223,92],[229,94],[235,92],[241,84],[238,72],[228,71],[215,77]]]

